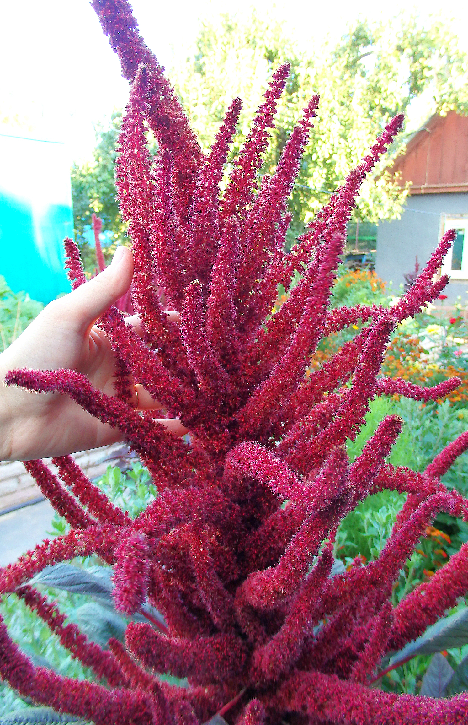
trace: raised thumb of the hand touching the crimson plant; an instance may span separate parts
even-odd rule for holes
[[[112,264],[63,298],[68,311],[86,326],[92,325],[128,291],[133,279],[133,256],[127,247],[117,247]]]

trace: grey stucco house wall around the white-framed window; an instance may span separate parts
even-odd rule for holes
[[[404,283],[404,274],[414,270],[416,255],[421,269],[437,247],[440,214],[468,214],[468,194],[410,196],[401,219],[378,225],[375,272],[385,282],[391,281],[394,290]],[[467,302],[467,290],[468,279],[450,282],[444,304],[453,304],[459,294]]]

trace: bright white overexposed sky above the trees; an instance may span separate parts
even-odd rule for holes
[[[377,10],[376,0],[311,0],[275,4],[266,0],[133,0],[133,10],[146,43],[170,68],[191,53],[201,20],[233,9],[239,16],[256,8],[259,17],[283,20],[291,38],[303,49],[335,39],[359,14],[369,19],[390,17],[411,2],[392,0]],[[383,3],[380,3],[383,5]],[[461,46],[468,50],[468,4],[447,4],[447,22],[456,14]],[[440,13],[440,0],[425,0],[424,17]],[[424,12],[424,16],[422,16]],[[117,57],[88,0],[17,0],[4,3],[0,30],[0,119],[17,115],[38,138],[65,141],[70,159],[88,158],[94,145],[93,124],[104,121],[114,107],[123,107],[128,83],[120,77]],[[5,132],[0,127],[0,133]],[[17,133],[17,131],[16,131]]]

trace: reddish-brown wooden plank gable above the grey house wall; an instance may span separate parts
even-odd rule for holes
[[[406,145],[391,173],[410,194],[468,191],[468,116],[433,115]]]

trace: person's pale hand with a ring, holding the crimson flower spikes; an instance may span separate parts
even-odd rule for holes
[[[128,291],[133,278],[130,249],[119,247],[112,265],[90,282],[51,302],[0,355],[0,460],[32,460],[67,455],[124,439],[118,428],[104,425],[69,397],[38,394],[3,381],[9,370],[70,368],[88,377],[94,387],[114,394],[114,354],[96,320]],[[169,312],[172,318],[176,312]],[[138,334],[137,315],[128,318]],[[160,409],[141,385],[135,385],[138,410]],[[160,421],[183,435],[178,419]]]

